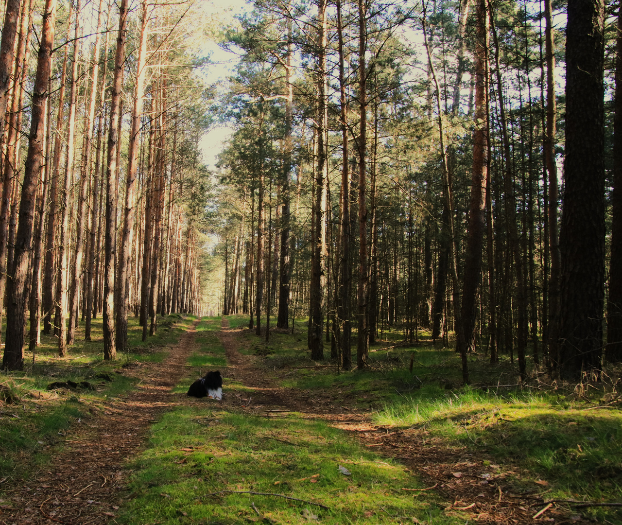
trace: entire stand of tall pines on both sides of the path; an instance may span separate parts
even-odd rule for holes
[[[159,315],[202,312],[205,233],[221,312],[265,337],[272,315],[304,318],[315,360],[330,345],[351,368],[356,330],[363,368],[386,330],[425,331],[456,338],[465,382],[472,351],[518,358],[521,380],[580,379],[605,326],[620,360],[620,100],[605,105],[603,81],[620,72],[600,0],[570,1],[557,65],[549,1],[257,2],[223,42],[241,60],[218,108],[188,67],[199,4],[96,4],[61,2],[51,22],[47,2],[53,45],[33,38],[32,2],[5,4],[6,368],[22,366],[29,310],[29,346],[42,318],[60,353],[102,312],[106,358],[132,312],[144,339]],[[219,181],[198,147],[212,117],[234,128]]]

